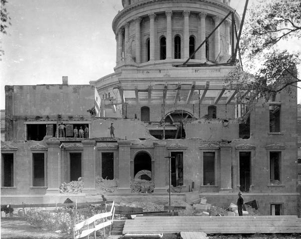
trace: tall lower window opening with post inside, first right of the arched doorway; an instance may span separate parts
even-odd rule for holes
[[[176,186],[183,185],[183,152],[171,153],[171,184]]]

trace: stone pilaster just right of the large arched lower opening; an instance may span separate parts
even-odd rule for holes
[[[154,157],[155,157],[155,189],[154,192],[167,192],[165,176],[168,175],[168,169],[165,167],[165,145],[154,143]]]

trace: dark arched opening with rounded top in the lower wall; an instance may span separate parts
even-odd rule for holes
[[[134,178],[152,180],[152,159],[146,152],[139,152],[134,158]]]

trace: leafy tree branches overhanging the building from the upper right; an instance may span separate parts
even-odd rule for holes
[[[240,47],[244,68],[252,75],[238,67],[226,82],[241,83],[238,98],[251,90],[247,105],[250,111],[258,99],[268,100],[282,90],[291,94],[301,82],[296,71],[299,53],[279,49],[283,40],[301,40],[301,0],[259,0],[247,13]]]

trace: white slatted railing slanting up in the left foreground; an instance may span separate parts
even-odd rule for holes
[[[114,201],[113,201],[110,211],[96,214],[96,215],[74,225],[73,238],[74,239],[82,238],[82,237],[88,236],[89,234],[91,234],[93,232],[94,232],[94,237],[96,238],[97,230],[112,225],[113,219],[114,219],[114,213],[115,213],[115,207],[114,207]],[[101,220],[101,219],[102,219],[102,222],[99,224],[96,224],[96,221]],[[93,227],[91,228],[91,226],[93,226]],[[86,229],[83,229],[84,227],[86,227]],[[78,234],[79,230],[81,230],[81,229],[83,229],[83,230],[80,232],[80,234]]]

